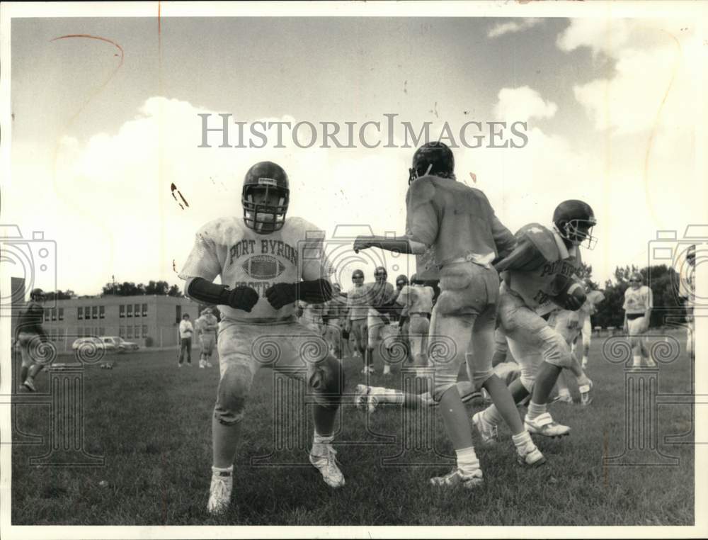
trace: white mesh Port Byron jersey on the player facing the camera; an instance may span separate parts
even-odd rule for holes
[[[265,298],[275,283],[329,278],[324,232],[302,218],[286,218],[279,231],[258,234],[243,218],[210,221],[198,230],[194,247],[179,276],[221,282],[231,288],[249,286],[258,293],[251,313],[219,305],[224,317],[242,322],[282,320],[295,313],[295,303],[276,310]]]

